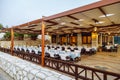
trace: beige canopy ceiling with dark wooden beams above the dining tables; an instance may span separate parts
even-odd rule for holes
[[[39,19],[13,28],[20,33],[39,34],[41,21]],[[92,32],[95,27],[99,33],[120,33],[120,0],[102,0],[45,17],[44,21],[45,33],[49,34]]]

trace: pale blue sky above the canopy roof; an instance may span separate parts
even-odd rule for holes
[[[0,24],[16,26],[100,0],[0,0]]]

